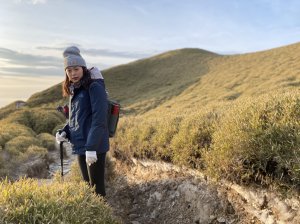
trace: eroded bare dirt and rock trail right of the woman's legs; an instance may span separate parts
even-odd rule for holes
[[[123,223],[300,223],[299,198],[214,184],[198,171],[163,162],[113,163],[107,201]]]

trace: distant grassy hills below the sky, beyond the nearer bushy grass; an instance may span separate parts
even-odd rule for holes
[[[300,86],[300,44],[249,54],[222,56],[201,49],[169,51],[103,71],[112,99],[124,112],[187,108],[271,90]],[[32,95],[27,104],[55,106],[61,85]]]

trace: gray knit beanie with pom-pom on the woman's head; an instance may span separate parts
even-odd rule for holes
[[[80,55],[78,47],[67,47],[63,53],[65,70],[69,66],[82,66],[86,67],[85,60]]]

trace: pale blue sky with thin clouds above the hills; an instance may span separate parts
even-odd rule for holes
[[[63,50],[101,70],[169,50],[240,54],[300,41],[298,0],[0,0],[0,107],[64,78]]]

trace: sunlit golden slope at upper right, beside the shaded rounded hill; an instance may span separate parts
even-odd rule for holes
[[[262,52],[215,57],[207,62],[205,75],[160,109],[195,108],[273,90],[298,89],[299,62],[299,43]]]

